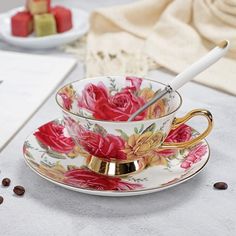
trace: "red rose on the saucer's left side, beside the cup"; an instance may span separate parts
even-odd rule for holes
[[[34,135],[39,142],[51,148],[53,151],[69,153],[73,150],[75,143],[72,138],[65,137],[63,130],[63,125],[49,122],[41,126]]]

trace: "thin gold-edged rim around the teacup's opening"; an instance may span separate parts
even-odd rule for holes
[[[102,79],[102,78],[104,78],[104,77],[118,77],[118,76],[97,76],[97,77],[85,78],[85,79],[80,79],[80,80],[75,80],[75,81],[73,81],[73,82],[70,82],[70,83],[64,85],[63,87],[61,87],[61,88],[56,92],[55,100],[56,100],[57,105],[61,108],[62,111],[64,111],[65,113],[67,113],[67,114],[69,114],[69,115],[74,115],[74,116],[76,116],[76,117],[79,117],[79,118],[82,118],[82,119],[86,119],[86,120],[96,121],[97,123],[100,123],[100,122],[101,122],[101,123],[122,124],[122,123],[131,123],[131,122],[132,122],[132,123],[138,124],[138,123],[149,122],[149,121],[152,122],[152,121],[160,120],[160,119],[162,119],[162,118],[164,118],[164,117],[168,117],[168,116],[170,116],[171,114],[173,114],[173,113],[175,113],[176,111],[178,111],[179,108],[180,108],[180,107],[182,106],[182,104],[183,104],[183,99],[182,99],[181,95],[179,94],[179,92],[174,91],[174,92],[179,96],[180,103],[179,103],[178,107],[177,107],[176,109],[174,109],[174,111],[172,111],[172,112],[170,112],[170,113],[168,113],[168,114],[166,114],[166,115],[164,115],[164,116],[160,116],[160,117],[155,118],[155,119],[139,120],[139,121],[108,121],[108,120],[96,120],[96,119],[93,119],[93,118],[89,118],[89,117],[86,117],[86,116],[82,116],[82,115],[76,114],[76,113],[71,112],[71,111],[67,111],[67,110],[66,110],[63,106],[61,106],[61,104],[58,102],[57,97],[58,97],[59,92],[60,92],[61,89],[64,89],[65,87],[67,87],[67,86],[69,86],[69,85],[73,85],[73,84],[75,84],[75,83],[78,83],[78,82],[80,82],[80,81],[82,81],[82,80],[89,80],[89,81],[91,81],[91,80],[93,80],[93,79],[95,79],[95,78],[101,78],[101,79]],[[138,77],[138,76],[137,76],[137,77]],[[166,84],[161,83],[161,82],[158,82],[158,81],[155,81],[155,80],[147,79],[147,78],[144,78],[144,77],[142,77],[142,79],[166,86]]]

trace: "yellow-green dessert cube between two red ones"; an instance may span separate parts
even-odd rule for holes
[[[34,29],[37,37],[56,34],[56,21],[53,14],[41,14],[34,16]]]

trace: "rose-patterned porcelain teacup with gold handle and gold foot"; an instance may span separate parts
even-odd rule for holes
[[[137,107],[164,86],[150,79],[104,76],[72,82],[57,92],[66,129],[89,169],[109,176],[134,174],[145,168],[145,156],[153,151],[188,148],[209,134],[213,119],[208,110],[175,117],[182,105],[178,92],[167,94],[137,120],[127,122]],[[165,142],[172,129],[195,116],[207,119],[204,132],[185,142]]]

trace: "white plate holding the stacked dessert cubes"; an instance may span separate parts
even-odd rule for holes
[[[71,8],[73,15],[73,28],[67,32],[35,37],[34,34],[28,37],[15,37],[11,34],[11,16],[24,7],[15,8],[0,15],[0,36],[9,44],[29,49],[47,49],[70,43],[82,37],[89,29],[89,14],[81,9]]]

